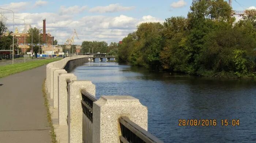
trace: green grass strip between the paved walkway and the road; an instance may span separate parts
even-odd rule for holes
[[[36,61],[26,61],[26,63],[17,63],[0,66],[0,78],[8,75],[16,74],[18,72],[26,71],[32,68],[40,67],[53,61],[61,60],[62,58],[43,59]]]

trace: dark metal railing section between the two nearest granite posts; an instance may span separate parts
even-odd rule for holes
[[[95,96],[82,90],[83,109],[83,143],[93,142],[93,102],[97,101]]]

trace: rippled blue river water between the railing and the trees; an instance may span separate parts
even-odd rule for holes
[[[96,97],[131,95],[148,107],[148,131],[165,143],[256,143],[256,82],[150,72],[118,63],[85,63],[72,71],[91,80]],[[216,119],[216,126],[178,126]],[[222,126],[221,119],[239,119]]]

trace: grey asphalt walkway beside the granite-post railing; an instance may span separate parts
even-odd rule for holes
[[[50,143],[42,93],[46,66],[0,78],[0,143]]]

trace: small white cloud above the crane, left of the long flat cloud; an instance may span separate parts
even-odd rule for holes
[[[79,12],[83,12],[84,10],[87,9],[87,6],[78,6],[78,5],[75,5],[75,6],[72,6],[72,7],[68,7],[66,8],[65,6],[61,6],[60,7],[60,15],[65,15],[65,14],[77,14]]]

